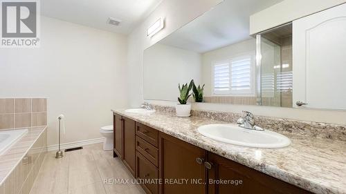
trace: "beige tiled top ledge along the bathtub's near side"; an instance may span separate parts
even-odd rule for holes
[[[44,130],[46,130],[46,128],[47,126],[27,127],[28,133],[21,137],[18,142],[13,144],[8,151],[3,153],[3,155],[0,155],[0,185],[3,184],[6,177],[8,177],[13,170],[15,170],[17,164],[21,162],[21,159],[24,158],[26,153],[28,153],[30,148],[44,132]]]

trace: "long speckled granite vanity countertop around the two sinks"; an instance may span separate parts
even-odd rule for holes
[[[199,126],[226,122],[203,117],[179,118],[160,111],[113,112],[313,193],[346,193],[346,142],[284,133],[292,142],[286,148],[248,148],[218,142],[197,132]]]

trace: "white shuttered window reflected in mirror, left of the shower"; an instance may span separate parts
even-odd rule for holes
[[[213,95],[255,96],[253,54],[232,57],[212,66]]]

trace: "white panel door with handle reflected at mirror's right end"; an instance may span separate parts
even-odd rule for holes
[[[293,104],[346,110],[346,4],[293,21]]]

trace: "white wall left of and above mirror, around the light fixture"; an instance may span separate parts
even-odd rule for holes
[[[143,50],[163,39],[185,23],[210,10],[222,0],[163,0],[163,2],[129,35],[127,55],[127,80],[129,104],[138,107],[143,103]],[[165,17],[165,28],[149,38],[147,28],[158,19]]]

